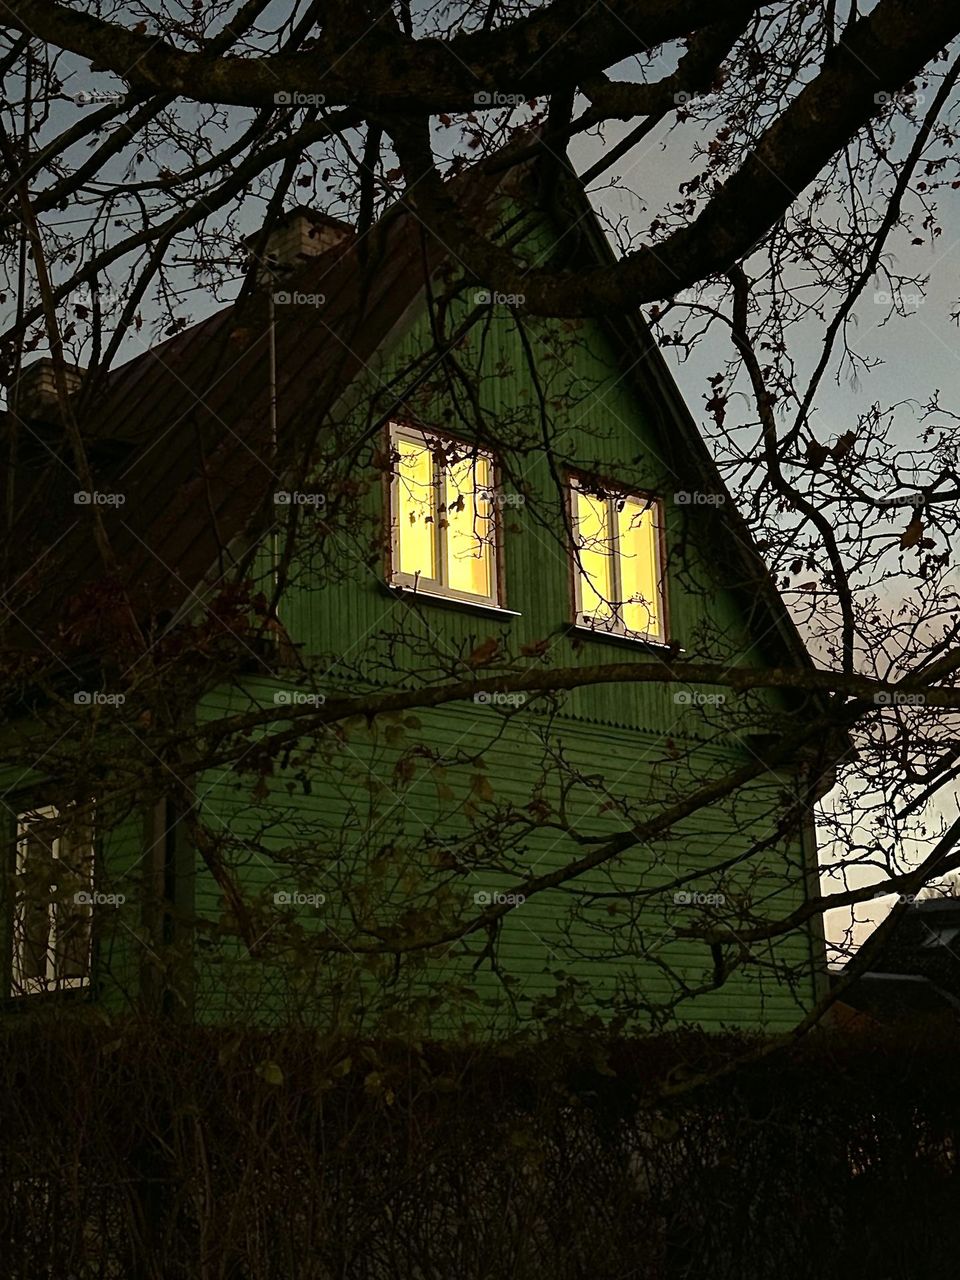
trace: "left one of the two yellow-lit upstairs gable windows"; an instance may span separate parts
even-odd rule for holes
[[[449,436],[394,426],[390,518],[397,586],[498,603],[493,458]]]

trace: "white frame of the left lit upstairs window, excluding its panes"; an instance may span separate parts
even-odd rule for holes
[[[401,562],[401,527],[399,527],[399,485],[401,479],[393,461],[396,445],[399,440],[430,448],[431,440],[440,440],[443,444],[462,447],[465,457],[485,458],[489,466],[490,483],[485,489],[492,495],[497,488],[497,460],[489,449],[475,448],[465,440],[451,435],[447,431],[434,431],[430,428],[408,426],[406,422],[390,422],[390,585],[406,588],[419,595],[435,595],[445,600],[460,600],[463,604],[481,604],[486,608],[503,608],[500,600],[500,518],[497,506],[490,504],[490,594],[480,595],[474,591],[461,591],[449,586],[443,579],[424,577],[422,573],[404,573],[399,568]],[[443,465],[433,458],[433,489],[436,494],[436,507],[439,511],[440,484],[443,480]],[[447,573],[447,529],[440,520],[434,521],[434,558],[440,573]]]

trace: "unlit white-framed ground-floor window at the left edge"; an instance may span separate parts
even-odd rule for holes
[[[17,815],[13,995],[90,982],[93,829],[88,808]]]

